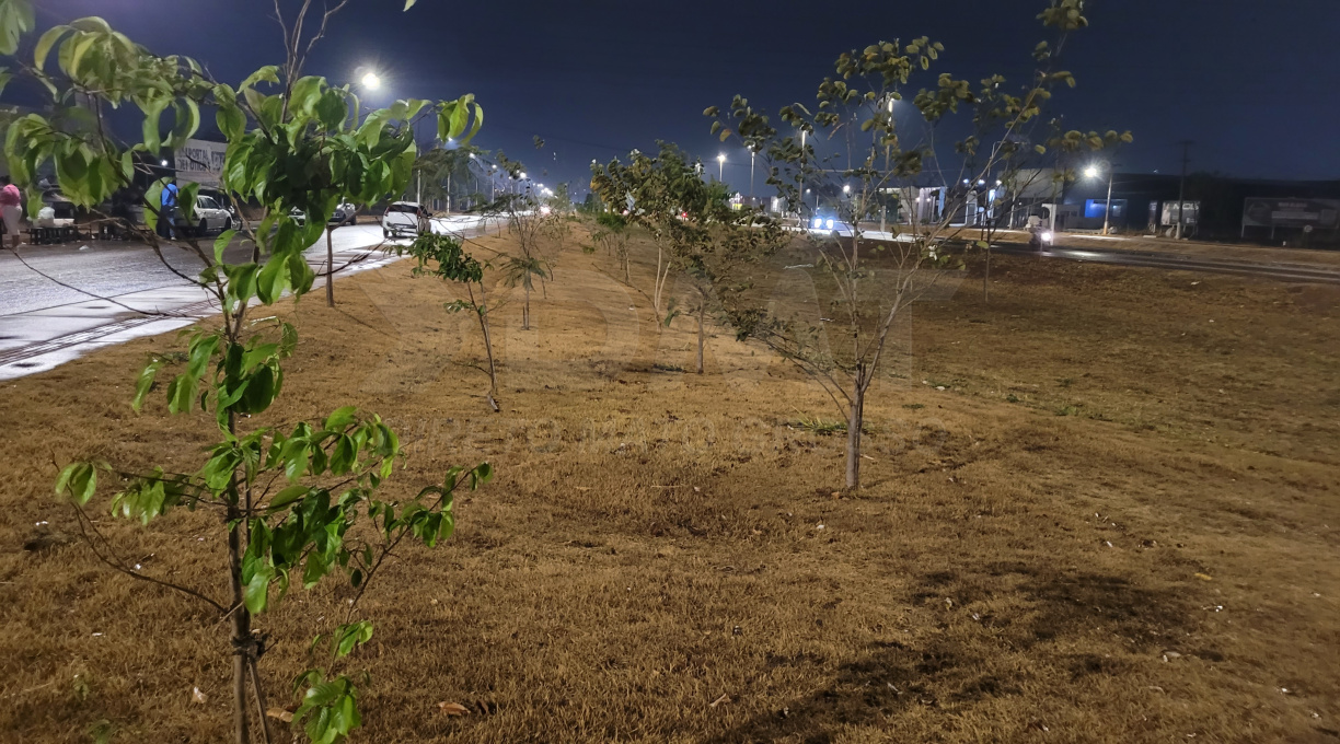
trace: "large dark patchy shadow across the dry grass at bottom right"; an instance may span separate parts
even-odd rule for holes
[[[1179,634],[1191,622],[1190,603],[1172,590],[1136,586],[1118,575],[1063,574],[1016,565],[1010,573],[1028,578],[1006,593],[962,586],[954,571],[927,574],[913,587],[911,602],[927,597],[1009,599],[1009,617],[982,618],[992,634],[950,629],[930,642],[878,641],[856,661],[838,668],[823,689],[785,707],[762,712],[705,744],[796,741],[827,744],[844,725],[886,727],[914,707],[953,708],[955,713],[990,700],[1022,694],[1029,677],[1051,666],[1071,680],[1089,674],[1120,674],[1119,661],[1097,653],[1073,653],[1084,638],[1107,642],[1114,634],[1136,648]],[[949,612],[949,610],[946,610]],[[1143,641],[1142,641],[1143,640]],[[1071,649],[1059,650],[1065,641]],[[1028,654],[1014,664],[1008,654]],[[946,712],[947,715],[947,712]]]

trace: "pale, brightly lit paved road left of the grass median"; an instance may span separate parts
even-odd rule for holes
[[[477,217],[448,217],[434,219],[433,230],[469,236],[477,234],[481,223]],[[336,268],[366,257],[381,242],[379,225],[335,230]],[[217,313],[204,290],[163,266],[142,244],[28,246],[19,256],[21,261],[0,252],[0,380],[43,372],[92,349],[184,328]],[[240,244],[228,253],[234,261],[245,256]],[[188,276],[202,266],[181,249],[165,248],[163,257]],[[350,270],[393,260],[374,253]],[[308,249],[307,261],[318,274],[326,270],[324,241]]]

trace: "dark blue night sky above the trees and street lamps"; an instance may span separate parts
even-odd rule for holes
[[[297,0],[280,0],[292,12]],[[320,0],[315,0],[319,5]],[[485,106],[478,145],[504,149],[536,178],[584,186],[592,158],[655,139],[704,159],[728,154],[748,185],[748,155],[708,132],[706,106],[736,92],[769,111],[813,100],[844,50],[927,35],[941,70],[1022,82],[1047,37],[1045,0],[726,3],[721,0],[352,0],[308,74],[346,82],[362,64],[387,95]],[[281,60],[272,0],[46,0],[39,27],[100,15],[159,54],[196,56],[228,82]],[[1256,178],[1340,178],[1340,0],[1091,0],[1092,28],[1064,67],[1080,86],[1055,112],[1076,128],[1130,128],[1123,170]],[[537,153],[532,135],[548,142]],[[712,165],[716,165],[714,162]]]

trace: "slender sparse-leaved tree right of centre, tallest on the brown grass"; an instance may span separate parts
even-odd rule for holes
[[[911,104],[925,127],[919,136],[915,131],[904,132],[895,115],[898,102],[904,100],[918,76],[930,74],[943,51],[942,44],[927,37],[879,41],[842,54],[835,74],[819,84],[815,111],[799,103],[781,108],[781,120],[795,131],[791,135],[779,132],[766,115],[741,96],[734,98],[726,112],[718,107],[705,111],[714,119],[713,132],[722,141],[738,138],[764,157],[768,182],[792,210],[797,210],[804,194],[801,185],[820,185],[815,189],[827,185],[828,193],[843,194],[838,211],[846,225],[839,231],[850,237],[824,234],[816,245],[816,268],[825,273],[836,296],[832,312],[840,318],[842,333],[835,343],[815,344],[815,335],[821,331],[813,324],[748,293],[732,298],[729,314],[741,337],[761,340],[824,385],[847,420],[848,488],[860,486],[866,396],[886,361],[894,322],[937,284],[939,269],[963,266],[962,258],[949,252],[949,241],[961,234],[962,227],[954,225],[966,206],[966,190],[959,183],[985,181],[1000,167],[1002,151],[1025,146],[1047,151],[1045,145],[1029,142],[1028,130],[1040,120],[1053,90],[1073,84],[1073,76],[1059,70],[1057,60],[1073,33],[1088,25],[1084,0],[1049,0],[1038,20],[1056,36],[1055,45],[1037,44],[1032,79],[1018,95],[1000,96],[994,110],[1004,124],[994,145],[973,141],[955,145],[959,153],[984,154],[972,171],[963,161],[958,177],[945,173],[943,163],[951,158],[937,151],[935,134],[938,124],[977,102],[967,80],[942,72],[913,94]],[[990,80],[993,88],[1004,84],[998,76]],[[815,167],[817,135],[847,154],[847,167]],[[927,178],[939,179],[949,194],[943,213],[927,214],[915,206],[922,195],[919,186]],[[913,223],[891,242],[871,244],[864,237],[863,221],[878,213],[890,193],[899,197],[899,203],[911,206]]]

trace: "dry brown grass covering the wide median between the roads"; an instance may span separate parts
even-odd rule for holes
[[[1340,740],[1335,288],[998,260],[992,305],[972,277],[918,305],[906,379],[871,401],[867,488],[836,499],[839,439],[787,426],[833,417],[812,383],[725,332],[708,375],[666,371],[691,368],[687,321],[658,332],[594,265],[612,269],[563,256],[537,331],[498,310],[501,415],[457,364],[468,318],[405,264],[284,310],[303,343],[264,423],[383,413],[410,454],[398,492],[498,471],[364,599],[358,740]],[[225,630],[201,606],[78,543],[21,547],[74,530],[58,462],[198,460],[206,419],[127,405],[169,344],[5,384],[5,741],[100,719],[117,741],[226,737]],[[205,515],[105,525],[146,571],[220,589]],[[273,694],[346,597],[260,618]]]

